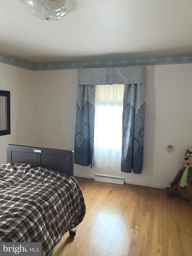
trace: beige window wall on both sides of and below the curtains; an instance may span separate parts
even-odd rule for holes
[[[76,176],[124,177],[127,183],[164,188],[192,146],[192,64],[147,66],[144,166],[141,174],[74,166]],[[77,70],[36,71],[35,146],[74,150]],[[167,152],[167,145],[173,152]]]

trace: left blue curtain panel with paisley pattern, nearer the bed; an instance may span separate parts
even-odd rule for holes
[[[94,165],[95,85],[79,85],[75,127],[75,164]]]

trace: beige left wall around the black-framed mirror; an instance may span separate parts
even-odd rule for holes
[[[35,145],[33,71],[0,63],[0,90],[10,91],[11,134],[0,136],[0,164],[7,144]]]

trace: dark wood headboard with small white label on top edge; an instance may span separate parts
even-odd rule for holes
[[[7,163],[28,163],[73,176],[74,152],[21,145],[7,145]]]

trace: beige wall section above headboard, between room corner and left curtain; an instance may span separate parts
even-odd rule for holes
[[[34,72],[35,146],[74,150],[77,71]]]

